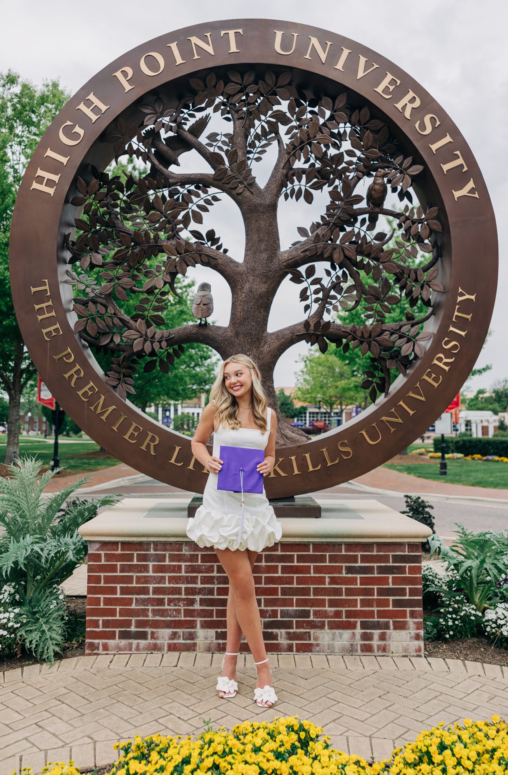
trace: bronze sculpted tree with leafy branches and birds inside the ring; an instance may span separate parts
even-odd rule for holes
[[[251,355],[275,408],[275,365],[302,340],[323,353],[330,344],[344,353],[360,348],[372,401],[423,355],[431,336],[423,324],[443,291],[438,208],[413,204],[423,164],[370,105],[333,88],[309,97],[291,71],[209,70],[182,86],[178,102],[163,90],[137,105],[136,122],[120,117],[109,126],[102,141],[132,171],[110,177],[92,167],[88,182],[78,179],[73,204],[83,212],[76,236],[66,238],[67,283],[75,288],[74,330],[111,353],[107,381],[122,398],[135,393],[140,367],[178,368],[188,343],[223,358]],[[261,186],[254,171],[266,167],[272,146],[275,161]],[[282,246],[279,203],[311,204],[316,192],[320,217]],[[210,210],[224,197],[244,222],[243,256],[230,255],[213,229]],[[379,219],[389,228],[377,232]],[[203,325],[213,298],[202,283],[192,307],[199,323],[164,329],[161,312],[178,295],[176,278],[198,264],[229,284],[229,325]],[[269,332],[286,277],[301,286],[302,319]],[[348,321],[354,310],[361,325]],[[278,423],[279,446],[306,438]]]

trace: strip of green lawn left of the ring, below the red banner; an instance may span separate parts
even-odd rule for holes
[[[20,436],[19,437],[19,455],[36,456],[44,467],[50,467],[53,460],[54,439],[43,439],[38,436]],[[109,468],[116,466],[119,462],[115,457],[110,457],[107,453],[98,453],[99,446],[92,441],[81,441],[81,439],[59,439],[58,455],[60,457],[60,467],[64,468],[64,473],[81,474],[81,472],[91,472],[100,468]],[[3,462],[5,456],[5,435],[0,435],[0,460]]]

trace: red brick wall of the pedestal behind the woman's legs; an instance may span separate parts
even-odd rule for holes
[[[265,549],[254,581],[268,653],[422,654],[420,556],[416,543]],[[223,651],[227,592],[211,548],[91,542],[87,653]]]

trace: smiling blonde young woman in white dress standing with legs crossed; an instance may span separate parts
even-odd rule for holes
[[[271,686],[252,569],[257,553],[280,540],[282,524],[277,522],[264,488],[263,494],[244,493],[244,525],[237,543],[241,494],[217,490],[217,476],[223,463],[219,458],[222,445],[264,449],[264,461],[257,470],[266,477],[275,463],[276,428],[275,412],[267,406],[254,361],[240,354],[221,363],[210,391],[210,403],[203,410],[192,439],[192,453],[210,473],[203,505],[195,517],[189,518],[186,532],[198,546],[213,546],[230,581],[226,654],[223,675],[218,677],[216,686],[219,697],[237,694],[237,656],[243,633],[257,666],[254,700],[260,708],[273,705],[277,696]],[[213,455],[210,455],[206,443],[212,433]]]

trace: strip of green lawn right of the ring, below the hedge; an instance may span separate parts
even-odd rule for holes
[[[450,484],[469,484],[472,487],[496,487],[508,490],[508,463],[486,463],[482,460],[447,460],[448,475],[439,474],[439,460],[433,463],[401,465],[386,463],[386,468],[411,474],[422,479],[435,479]]]

